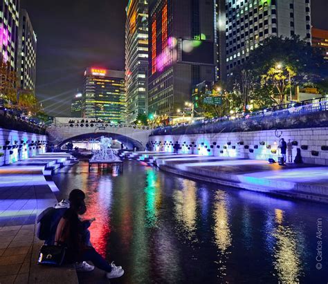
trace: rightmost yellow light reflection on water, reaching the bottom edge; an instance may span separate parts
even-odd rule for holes
[[[282,283],[299,283],[301,276],[298,240],[291,227],[283,225],[284,211],[275,209],[276,238],[274,267]]]

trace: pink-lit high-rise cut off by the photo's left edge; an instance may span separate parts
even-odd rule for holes
[[[0,0],[0,54],[17,70],[19,0]]]

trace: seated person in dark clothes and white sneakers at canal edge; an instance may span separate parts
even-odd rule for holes
[[[93,247],[84,243],[84,226],[79,219],[79,215],[83,215],[85,212],[86,207],[84,202],[81,200],[71,202],[70,208],[66,210],[58,224],[55,244],[66,247],[65,260],[69,263],[92,261],[95,267],[107,272],[107,278],[118,278],[122,276],[124,274],[122,267],[116,266],[113,263],[107,263]]]

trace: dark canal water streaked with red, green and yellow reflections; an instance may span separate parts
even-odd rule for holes
[[[91,242],[125,269],[119,283],[328,282],[327,205],[124,166],[54,176],[58,198],[86,193]]]

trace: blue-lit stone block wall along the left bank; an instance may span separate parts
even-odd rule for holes
[[[0,128],[0,166],[46,152],[46,135]]]

